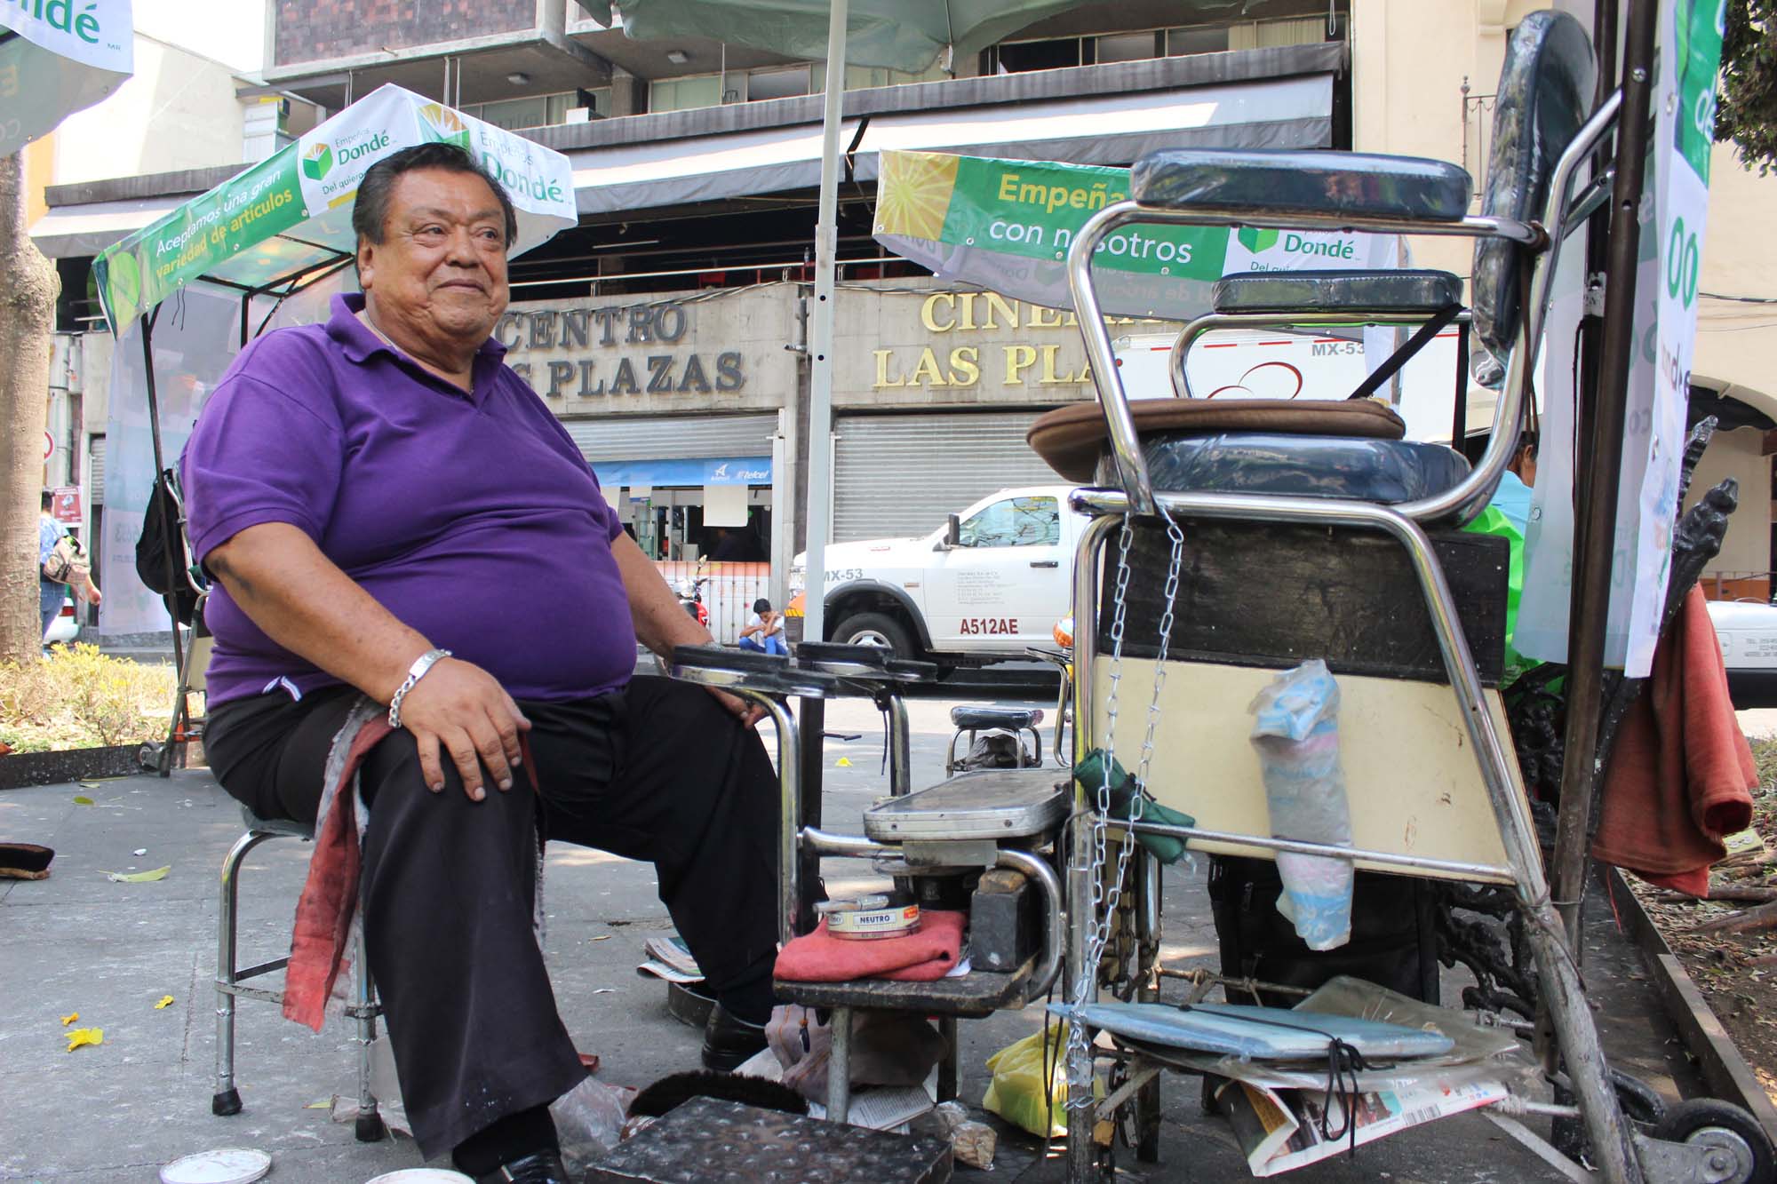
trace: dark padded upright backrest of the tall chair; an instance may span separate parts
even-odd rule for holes
[[[1555,162],[1592,114],[1596,71],[1585,28],[1566,12],[1532,12],[1518,25],[1500,69],[1482,213],[1541,220]],[[1475,332],[1500,357],[1510,352],[1525,315],[1532,258],[1503,238],[1475,245]]]

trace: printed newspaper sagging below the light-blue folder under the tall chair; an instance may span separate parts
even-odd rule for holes
[[[1493,1106],[1507,1093],[1505,1083],[1468,1074],[1432,1074],[1398,1090],[1359,1093],[1352,1104],[1356,1145],[1466,1109]],[[1352,1147],[1352,1134],[1345,1131],[1345,1099],[1340,1095],[1230,1081],[1219,1097],[1228,1108],[1228,1122],[1246,1154],[1246,1166],[1256,1177],[1304,1168]],[[1322,1115],[1327,1129],[1340,1131],[1342,1138],[1320,1136]]]

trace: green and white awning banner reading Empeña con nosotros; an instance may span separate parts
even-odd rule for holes
[[[1073,308],[1068,247],[1128,196],[1128,169],[885,151],[876,242],[944,279]],[[1127,226],[1098,245],[1098,300],[1118,316],[1191,320],[1239,272],[1398,267],[1393,235]]]

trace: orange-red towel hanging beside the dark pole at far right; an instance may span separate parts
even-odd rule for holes
[[[1757,784],[1722,645],[1702,588],[1692,588],[1617,732],[1592,855],[1708,896],[1709,866],[1727,853],[1722,837],[1752,823]]]

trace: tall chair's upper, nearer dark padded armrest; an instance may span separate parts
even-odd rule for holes
[[[1461,222],[1475,183],[1443,160],[1301,149],[1166,148],[1130,171],[1130,196],[1166,210],[1349,213]]]

